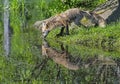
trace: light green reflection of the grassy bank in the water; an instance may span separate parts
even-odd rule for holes
[[[60,42],[56,42],[55,40],[48,39],[48,43],[50,44],[51,48],[54,48],[56,50],[61,51],[60,48]],[[98,49],[95,47],[86,47],[83,45],[78,44],[63,44],[64,48],[66,49],[66,46],[68,46],[68,52],[73,57],[81,57],[81,58],[88,58],[88,57],[94,57],[94,56],[111,56],[111,57],[119,57],[120,52],[117,50],[112,49]]]

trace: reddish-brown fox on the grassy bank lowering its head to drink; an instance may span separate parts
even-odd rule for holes
[[[88,24],[84,25],[80,22],[84,17],[90,20],[89,25]],[[62,28],[58,35],[62,35],[65,28],[66,28],[66,34],[69,35],[68,25],[70,25],[70,23],[72,22],[74,22],[78,26],[83,25],[85,27],[96,26],[96,25],[101,27],[105,26],[105,20],[101,16],[95,13],[82,11],[78,8],[69,9],[63,13],[60,13],[59,15],[53,16],[41,22],[37,21],[34,24],[34,26],[37,26],[40,28],[40,25],[43,24],[41,26],[43,37],[46,37],[52,29],[59,26]],[[101,22],[103,24],[101,24]]]

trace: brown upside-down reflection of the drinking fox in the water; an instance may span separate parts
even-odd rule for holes
[[[79,66],[71,63],[69,61],[69,54],[68,51],[64,49],[63,45],[61,44],[62,52],[57,51],[56,49],[51,48],[46,41],[43,42],[42,45],[42,55],[45,55],[57,64],[61,64],[64,67],[71,69],[71,70],[78,70]]]

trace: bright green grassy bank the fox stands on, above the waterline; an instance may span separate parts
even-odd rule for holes
[[[120,50],[120,23],[108,25],[106,28],[74,28],[69,36],[55,38],[58,30],[52,31],[47,39],[57,39],[67,44],[82,44],[99,48],[118,48]],[[56,33],[57,32],[57,33]]]

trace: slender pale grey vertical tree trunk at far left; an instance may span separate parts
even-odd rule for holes
[[[10,27],[9,27],[9,0],[4,1],[4,50],[5,55],[10,53]]]

